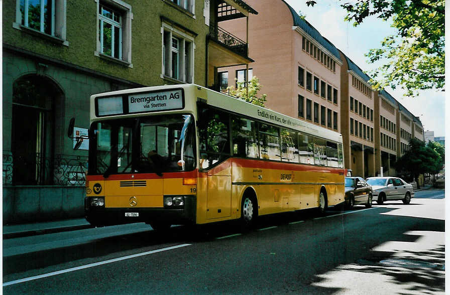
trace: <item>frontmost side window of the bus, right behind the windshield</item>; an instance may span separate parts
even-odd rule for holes
[[[229,121],[226,112],[199,107],[200,169],[208,169],[230,158]]]

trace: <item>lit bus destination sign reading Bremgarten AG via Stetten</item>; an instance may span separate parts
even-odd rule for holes
[[[183,107],[182,89],[136,93],[128,96],[130,113],[182,109]]]

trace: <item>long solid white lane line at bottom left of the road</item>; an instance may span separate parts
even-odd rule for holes
[[[61,273],[71,272],[71,271],[80,270],[80,269],[89,268],[89,267],[94,267],[94,266],[107,264],[107,263],[111,263],[111,262],[117,262],[117,261],[121,261],[121,260],[125,260],[125,259],[130,259],[130,258],[144,256],[144,255],[149,255],[149,254],[153,254],[153,253],[157,253],[157,252],[162,252],[162,251],[172,250],[172,249],[176,249],[176,248],[186,247],[186,246],[190,246],[190,245],[191,244],[181,244],[181,245],[176,245],[176,246],[172,246],[172,247],[162,248],[162,249],[158,249],[158,250],[152,250],[152,251],[148,251],[148,252],[128,255],[128,256],[124,256],[124,257],[109,259],[109,260],[95,262],[95,263],[90,263],[90,264],[81,265],[81,266],[77,266],[77,267],[72,267],[72,268],[68,268],[68,269],[53,271],[53,272],[49,272],[49,273],[45,273],[45,274],[30,276],[30,277],[21,278],[21,279],[12,280],[12,281],[3,283],[3,286],[5,287],[5,286],[9,286],[9,285],[18,284],[18,283],[21,283],[21,282],[26,282],[26,281],[30,281],[30,280],[40,279],[40,278],[44,278],[44,277],[48,277],[48,276],[58,275],[58,274],[61,274]]]

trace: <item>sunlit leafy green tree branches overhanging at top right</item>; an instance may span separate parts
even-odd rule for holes
[[[316,2],[306,4],[314,6]],[[397,29],[396,35],[382,41],[381,48],[366,54],[371,63],[384,63],[370,72],[374,88],[400,85],[406,96],[418,95],[417,90],[423,89],[444,90],[444,0],[346,0],[341,7],[347,10],[345,20],[354,21],[355,27],[376,16],[392,20]]]

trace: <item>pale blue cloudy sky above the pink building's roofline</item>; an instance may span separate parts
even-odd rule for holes
[[[380,48],[381,41],[394,35],[396,30],[389,22],[371,17],[363,24],[353,27],[353,22],[345,22],[346,11],[337,0],[318,0],[314,7],[307,7],[306,0],[285,0],[297,13],[334,46],[344,52],[363,71],[370,71],[381,64],[370,64],[365,56],[370,49]],[[368,73],[369,74],[369,73]],[[370,75],[369,75],[370,76]],[[405,90],[386,88],[389,94],[405,106],[414,116],[420,118],[424,130],[434,131],[434,136],[445,135],[445,94],[442,91],[426,90],[419,96],[406,97]]]

